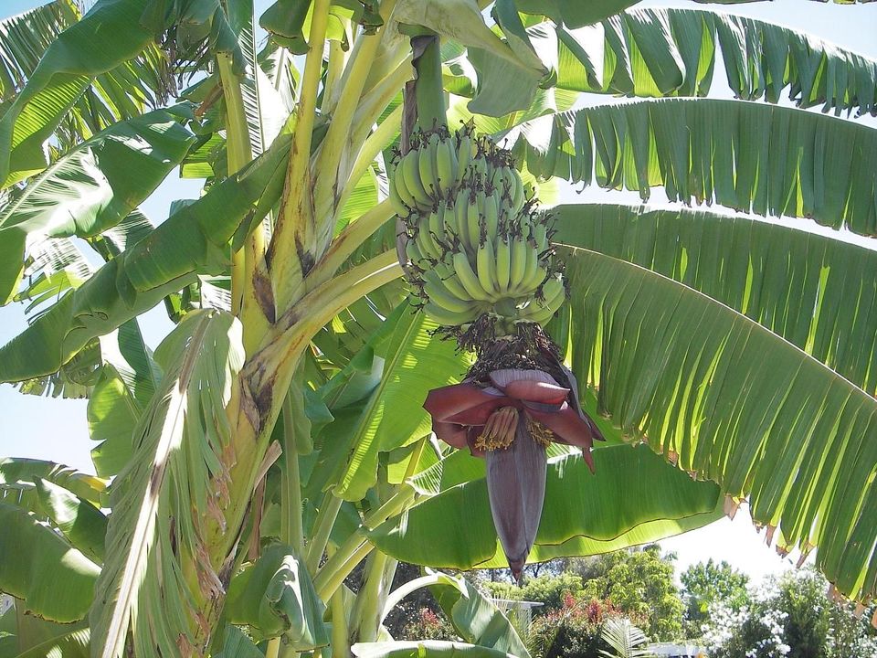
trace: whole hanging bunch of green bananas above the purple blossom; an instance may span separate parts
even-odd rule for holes
[[[481,315],[513,333],[565,301],[550,217],[525,199],[511,154],[470,127],[416,133],[390,177],[409,278],[425,312],[463,331]]]

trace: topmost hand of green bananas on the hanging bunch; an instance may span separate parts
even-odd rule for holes
[[[523,182],[511,154],[487,138],[476,139],[471,126],[457,133],[450,133],[444,125],[420,131],[411,135],[410,143],[390,176],[390,201],[399,217],[428,212],[467,180],[492,186],[508,197],[515,211],[523,207]]]

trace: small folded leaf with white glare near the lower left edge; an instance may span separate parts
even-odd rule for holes
[[[103,544],[107,534],[107,517],[93,504],[48,480],[34,478],[37,497],[52,525],[61,531],[70,545],[95,564],[103,564]]]

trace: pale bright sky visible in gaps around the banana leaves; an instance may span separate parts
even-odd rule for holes
[[[39,4],[31,0],[4,0],[0,3],[0,18],[15,15]],[[267,4],[265,0],[257,1],[258,6]],[[639,6],[692,8],[702,5],[647,0]],[[807,0],[775,0],[745,5],[713,5],[712,8],[805,30],[862,55],[877,58],[877,3],[839,6]],[[153,222],[161,222],[167,217],[168,207],[174,199],[193,198],[198,195],[199,189],[197,181],[180,180],[172,176],[143,204],[143,211]],[[639,200],[600,190],[587,190],[582,195],[576,195],[568,186],[561,190],[561,199],[574,203]],[[0,309],[0,344],[5,344],[25,326],[21,307],[11,305]],[[147,313],[143,321],[147,342],[153,347],[170,327],[171,324],[162,310]],[[86,425],[84,400],[22,396],[13,387],[4,384],[0,385],[0,418],[3,419],[0,456],[52,459],[82,471],[92,470],[89,459],[91,441]],[[727,560],[752,578],[760,578],[766,573],[791,566],[788,559],[781,560],[773,549],[765,546],[763,535],[755,534],[745,508],[740,510],[734,522],[725,519],[706,528],[665,540],[662,545],[678,554],[680,568],[713,557]]]

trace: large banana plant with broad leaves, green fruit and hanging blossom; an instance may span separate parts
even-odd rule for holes
[[[527,658],[428,569],[638,545],[744,501],[777,550],[816,549],[839,595],[872,599],[877,263],[809,229],[877,234],[857,121],[877,61],[635,5],[57,0],[0,22],[0,301],[31,302],[0,380],[89,397],[100,475],[0,462],[0,655]],[[720,53],[734,100],[710,98]],[[499,196],[470,176],[454,212],[417,207],[480,153]],[[153,227],[138,206],[174,171],[203,193]],[[526,241],[501,225],[504,194],[557,180],[674,206],[559,206]],[[153,351],[138,318],[159,304],[176,326]],[[485,311],[540,327],[551,381],[478,369]],[[432,404],[483,395],[473,368],[503,400],[488,418]],[[491,515],[523,491],[495,467],[512,428],[549,444],[526,550]],[[393,590],[400,559],[424,576]],[[460,642],[388,636],[417,587]]]

